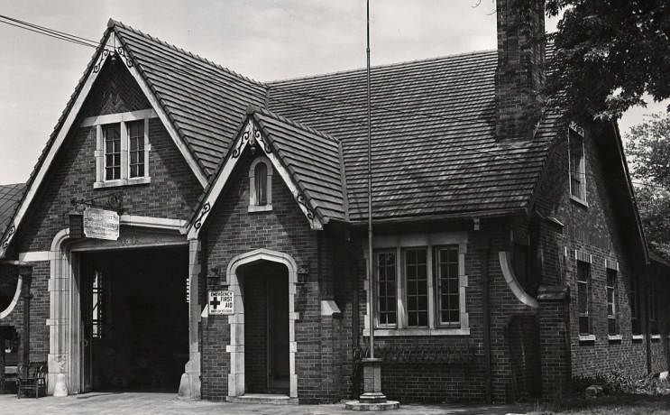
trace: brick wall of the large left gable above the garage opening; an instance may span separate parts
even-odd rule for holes
[[[96,181],[96,133],[81,128],[82,116],[125,112],[150,107],[124,65],[106,65],[91,89],[57,154],[41,188],[33,199],[30,214],[23,219],[14,237],[12,251],[48,251],[53,237],[69,226],[67,214],[71,198],[95,198],[115,191],[124,195],[124,213],[147,217],[188,219],[202,188],[158,118],[149,124],[151,184],[112,189],[93,189]],[[122,230],[123,232],[123,230]],[[49,352],[50,263],[34,263],[31,304],[31,359],[46,361]],[[23,300],[0,324],[23,330]]]

